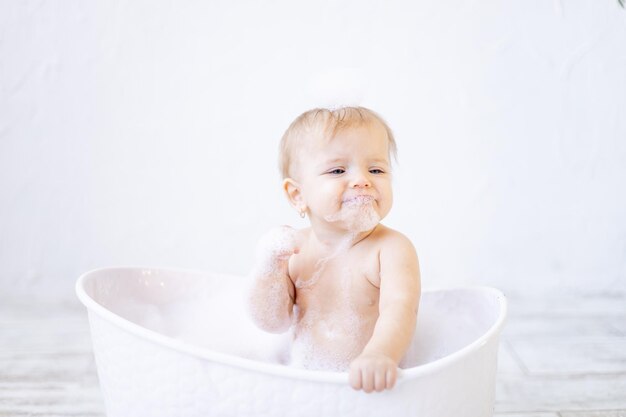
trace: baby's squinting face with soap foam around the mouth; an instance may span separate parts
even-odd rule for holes
[[[371,230],[391,209],[389,139],[379,123],[349,127],[328,140],[307,141],[297,180],[312,224]]]

